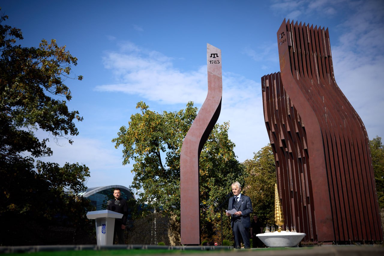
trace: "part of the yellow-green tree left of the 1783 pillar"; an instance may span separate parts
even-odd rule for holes
[[[164,211],[180,209],[180,146],[186,123],[191,123],[197,109],[192,103],[185,111],[162,114],[149,110],[144,102],[137,103],[141,113],[131,116],[129,127],[122,126],[118,137],[112,140],[120,145],[123,165],[134,161],[132,188],[137,190],[138,201]],[[179,178],[177,178],[179,175]]]

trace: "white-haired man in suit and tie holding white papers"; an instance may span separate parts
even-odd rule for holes
[[[237,212],[227,216],[231,216],[231,226],[233,236],[235,237],[235,246],[241,248],[241,239],[243,239],[244,248],[251,248],[249,241],[249,228],[251,227],[250,214],[253,211],[251,199],[249,196],[241,194],[241,185],[237,181],[232,183],[233,196],[228,202],[228,211],[236,209]]]

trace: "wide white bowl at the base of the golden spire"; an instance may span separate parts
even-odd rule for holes
[[[273,233],[257,234],[256,236],[268,247],[296,247],[305,236],[305,233],[275,231]]]

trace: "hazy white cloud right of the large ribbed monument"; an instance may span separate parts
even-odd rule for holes
[[[364,2],[356,10],[340,25],[346,32],[336,40],[336,47],[331,42],[334,73],[372,139],[384,136],[384,12],[383,5],[375,2]]]

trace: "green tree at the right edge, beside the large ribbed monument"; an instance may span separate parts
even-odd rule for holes
[[[377,198],[379,208],[384,209],[384,146],[381,137],[376,136],[369,141],[372,156],[372,166],[375,173]]]

